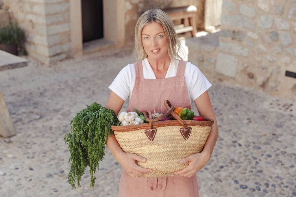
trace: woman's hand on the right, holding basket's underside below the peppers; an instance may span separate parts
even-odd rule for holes
[[[180,163],[184,164],[189,162],[189,165],[182,170],[175,171],[174,173],[188,178],[192,177],[196,172],[200,171],[200,169],[202,169],[207,164],[207,162],[210,160],[210,157],[210,154],[206,151],[185,157],[184,159],[181,159]]]

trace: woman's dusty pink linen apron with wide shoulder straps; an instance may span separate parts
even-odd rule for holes
[[[144,79],[141,61],[134,65],[136,80],[127,112],[133,111],[132,107],[139,111],[166,112],[165,100],[169,100],[172,106],[191,109],[184,77],[185,61],[179,61],[176,76],[164,79]],[[196,175],[191,178],[180,175],[154,178],[131,177],[122,168],[119,196],[198,197],[199,191]]]

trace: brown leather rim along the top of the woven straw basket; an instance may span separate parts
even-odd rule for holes
[[[189,121],[184,120],[187,126],[212,126],[214,124],[214,120],[210,118],[206,118],[204,116],[201,116],[204,118],[205,121]],[[178,120],[169,120],[169,121],[156,121],[153,122],[152,127],[164,127],[164,126],[182,126],[181,123]],[[149,123],[142,123],[138,125],[128,125],[128,126],[111,126],[112,131],[121,131],[121,132],[127,132],[127,131],[136,131],[139,129],[147,129],[149,127]]]

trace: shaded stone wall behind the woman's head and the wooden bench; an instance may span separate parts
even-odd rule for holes
[[[131,43],[134,38],[134,28],[139,16],[149,8],[168,8],[178,6],[194,5],[197,7],[197,14],[195,17],[196,27],[204,28],[204,0],[125,0],[125,38],[127,43]]]

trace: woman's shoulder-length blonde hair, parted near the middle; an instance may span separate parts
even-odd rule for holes
[[[183,58],[178,55],[180,50],[182,53],[183,51],[181,47],[181,41],[177,38],[176,30],[174,28],[172,20],[167,13],[163,12],[161,9],[155,8],[145,11],[137,20],[133,48],[133,53],[136,56],[137,61],[141,61],[142,59],[147,57],[147,53],[145,52],[141,41],[141,34],[145,25],[150,22],[157,22],[163,27],[165,36],[169,41],[168,54],[170,56],[170,59],[173,60],[175,58],[178,58],[183,60]]]

